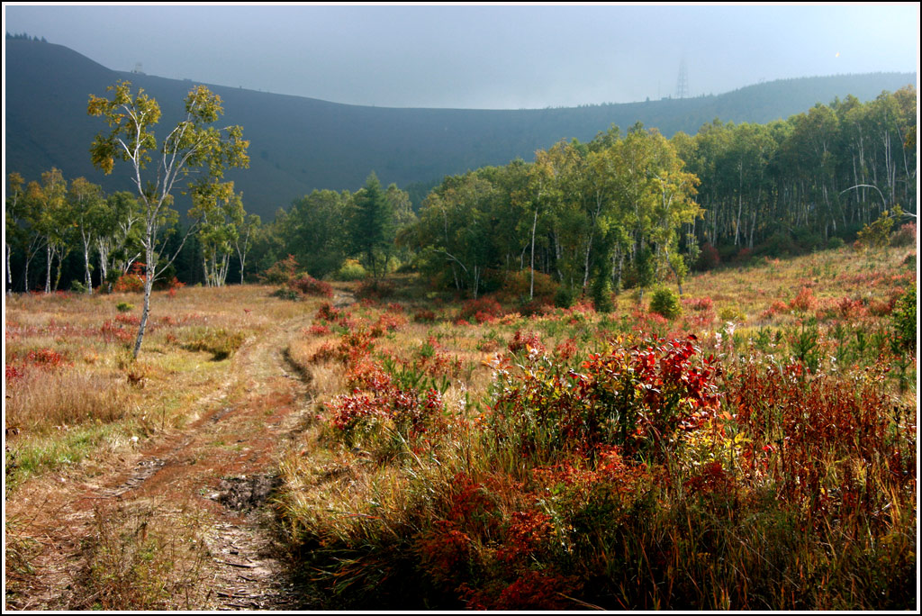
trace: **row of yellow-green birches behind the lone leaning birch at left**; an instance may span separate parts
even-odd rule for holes
[[[160,278],[220,287],[233,260],[243,282],[259,217],[246,214],[232,184],[211,190],[195,195],[184,224],[175,215],[173,224],[164,219],[160,243],[178,254],[182,267],[164,268]],[[28,184],[10,172],[5,213],[7,291],[111,291],[119,278],[146,265],[144,210],[131,192],[106,195],[84,177],[67,181],[56,168]],[[186,249],[180,243],[187,235]]]

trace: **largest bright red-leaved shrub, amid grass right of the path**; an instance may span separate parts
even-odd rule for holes
[[[665,454],[678,432],[697,428],[717,406],[715,366],[695,361],[694,338],[612,345],[582,373],[542,360],[538,370],[500,371],[489,418],[500,443],[521,453],[582,455],[618,445]]]

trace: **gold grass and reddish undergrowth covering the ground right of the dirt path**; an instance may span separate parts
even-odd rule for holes
[[[466,323],[407,291],[318,313],[290,348],[315,420],[281,468],[303,575],[340,609],[913,609],[916,362],[889,316],[916,276],[905,255],[693,276],[671,320],[631,293],[608,315]],[[568,413],[601,399],[570,375],[651,332],[695,335],[683,370],[713,355],[721,405],[677,407],[677,429],[633,403],[628,438],[560,432],[594,425]],[[439,408],[402,420],[431,377]]]

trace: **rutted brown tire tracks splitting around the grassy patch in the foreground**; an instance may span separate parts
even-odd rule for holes
[[[304,314],[249,340],[231,358],[227,376],[196,405],[202,414],[180,434],[154,439],[124,460],[121,470],[92,481],[38,482],[37,488],[53,494],[61,506],[41,527],[31,527],[30,536],[55,539],[36,559],[41,571],[34,594],[7,607],[92,607],[92,597],[75,590],[87,571],[85,546],[96,536],[100,519],[147,507],[157,516],[151,527],[169,527],[187,508],[210,520],[200,529],[209,559],[209,579],[203,581],[210,590],[203,604],[190,608],[310,609],[311,599],[287,579],[276,515],[267,504],[278,486],[281,447],[296,438],[312,403],[309,384],[291,372],[284,352],[310,320]],[[217,402],[219,408],[209,411]],[[37,493],[34,500],[39,498]]]

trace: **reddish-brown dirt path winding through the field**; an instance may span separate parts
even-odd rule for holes
[[[337,301],[352,300],[340,295]],[[105,580],[107,566],[143,558],[126,551],[146,545],[148,529],[156,529],[158,553],[148,558],[187,547],[183,541],[193,546],[183,548],[166,573],[196,583],[183,608],[316,609],[285,574],[270,498],[278,455],[298,438],[313,404],[310,384],[284,353],[310,318],[248,341],[223,381],[190,409],[195,419],[182,431],[152,439],[97,477],[34,480],[29,492],[7,503],[8,518],[24,520],[21,531],[37,546],[24,580],[28,592],[7,598],[7,608],[100,607],[102,593],[119,589],[100,582],[88,590],[88,575]],[[106,560],[118,549],[120,561]]]

